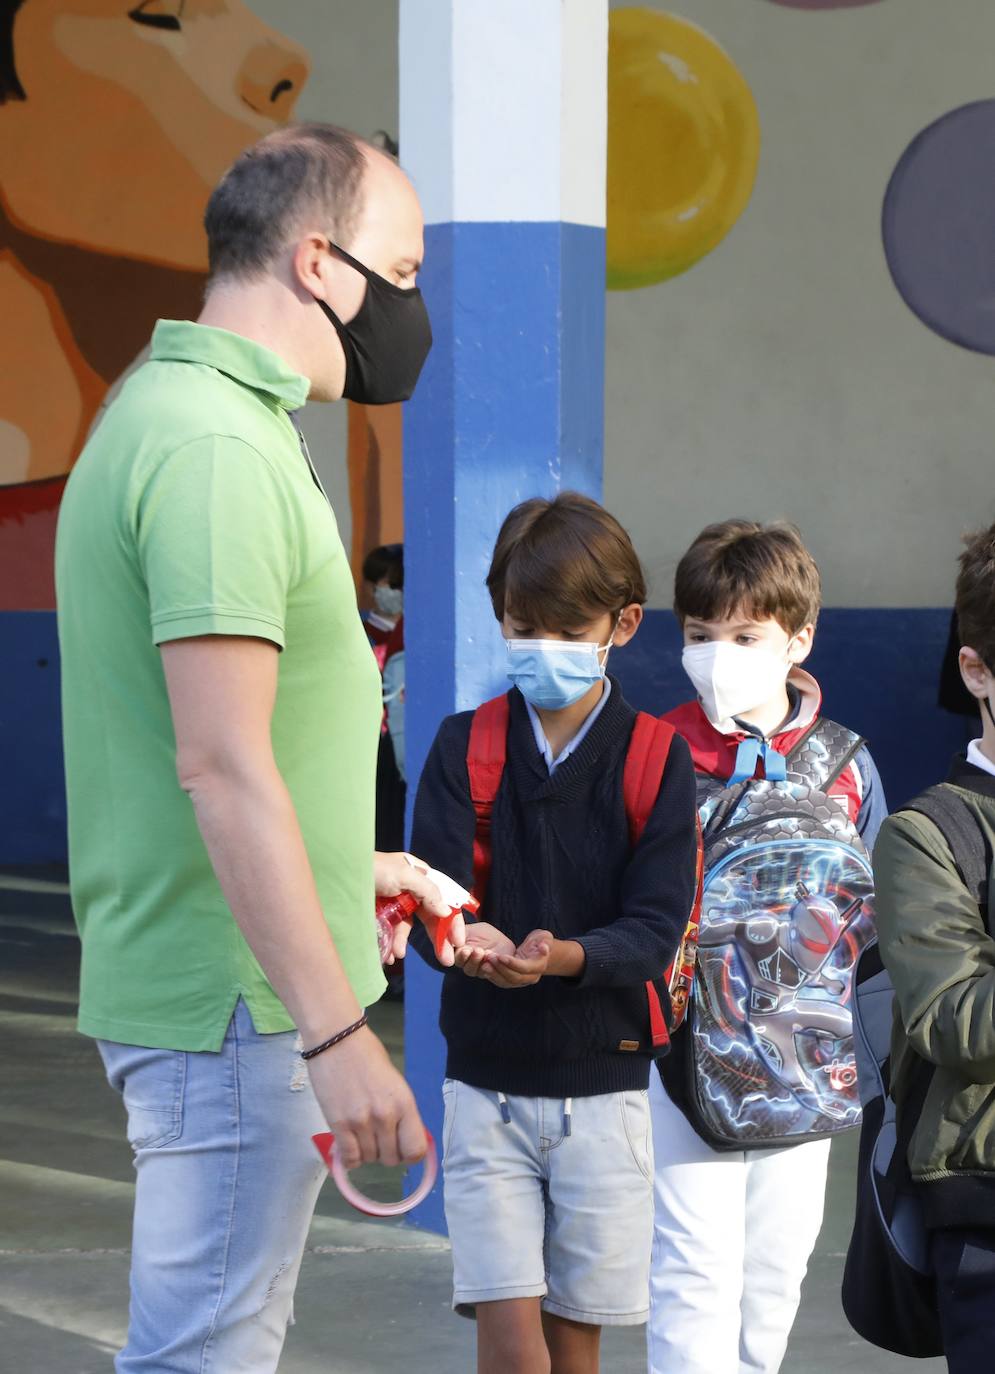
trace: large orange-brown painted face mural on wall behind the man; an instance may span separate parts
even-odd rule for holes
[[[0,0],[0,610],[54,605],[65,474],[157,316],[197,313],[210,188],[306,76],[243,0]]]

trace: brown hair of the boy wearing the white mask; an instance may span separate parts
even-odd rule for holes
[[[776,620],[787,635],[814,625],[822,578],[794,525],[708,525],[678,563],[673,611],[686,620]]]

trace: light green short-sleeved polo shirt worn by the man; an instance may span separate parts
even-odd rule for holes
[[[282,650],[273,750],[361,1004],[374,925],[381,686],[335,518],[289,411],[305,378],[225,330],[164,320],[66,486],[56,541],[80,1029],[217,1050],[238,998],[291,1021],[225,904],[190,798],[158,646]]]

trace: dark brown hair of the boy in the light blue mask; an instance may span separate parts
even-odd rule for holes
[[[632,541],[614,515],[579,492],[515,506],[502,525],[487,574],[498,620],[574,629],[646,600]]]

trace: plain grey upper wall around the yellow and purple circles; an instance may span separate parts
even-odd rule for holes
[[[653,602],[694,533],[737,514],[797,521],[829,605],[946,605],[961,532],[995,517],[994,364],[906,308],[880,216],[914,135],[995,93],[995,7],[661,8],[733,55],[761,151],[752,202],[709,257],[609,294],[606,502]]]

